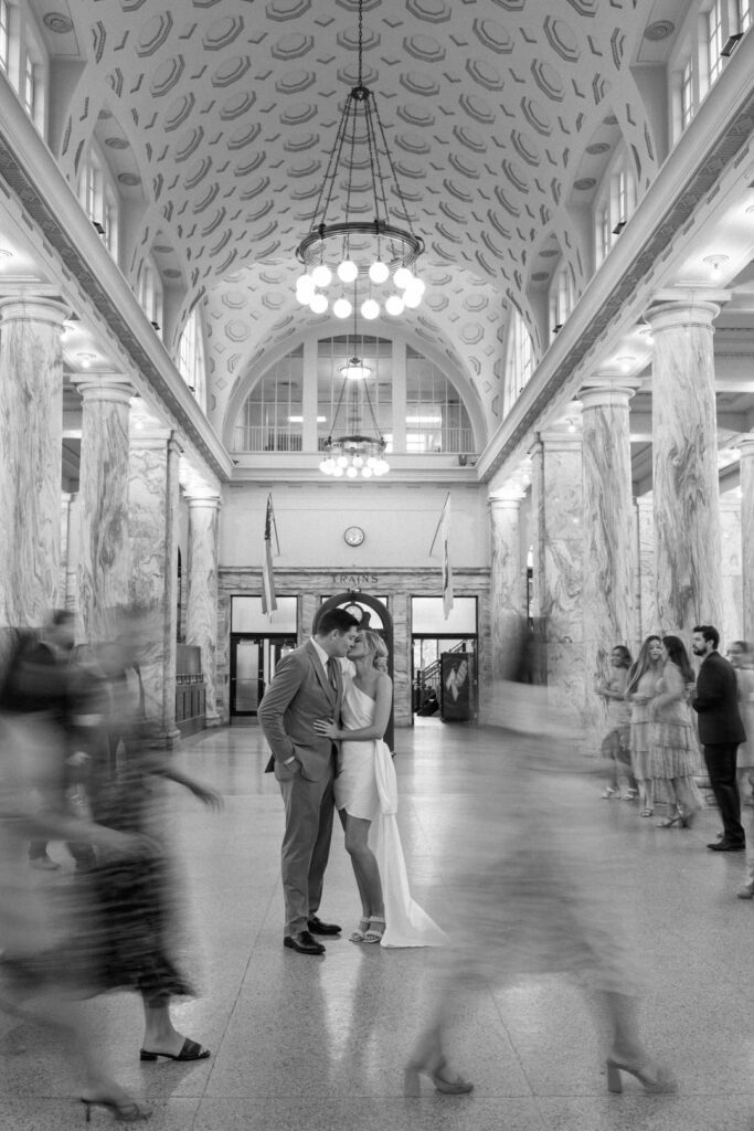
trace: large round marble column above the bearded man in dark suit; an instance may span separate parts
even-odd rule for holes
[[[660,632],[720,624],[720,515],[712,322],[727,292],[666,291],[655,338],[652,491]]]

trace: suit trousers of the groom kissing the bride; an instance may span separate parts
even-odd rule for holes
[[[285,806],[280,870],[286,935],[305,931],[320,906],[332,838],[333,776],[331,766],[320,782],[301,774],[279,782]]]

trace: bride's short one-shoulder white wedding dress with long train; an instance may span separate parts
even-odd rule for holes
[[[356,687],[344,671],[341,718],[348,731],[369,726],[375,702]],[[383,947],[441,947],[448,935],[411,899],[406,860],[398,822],[398,783],[392,757],[385,742],[367,739],[344,741],[335,779],[337,808],[352,817],[371,821],[370,841],[380,869],[384,898],[385,931]]]

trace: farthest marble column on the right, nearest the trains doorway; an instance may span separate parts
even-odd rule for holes
[[[493,494],[487,500],[492,527],[489,571],[491,680],[482,705],[482,722],[502,725],[499,684],[510,676],[510,647],[526,619],[526,564],[521,562],[521,493]]]

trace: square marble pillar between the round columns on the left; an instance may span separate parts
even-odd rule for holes
[[[167,429],[131,431],[129,599],[145,629],[141,675],[147,715],[172,745],[175,727],[177,508],[181,449]]]

